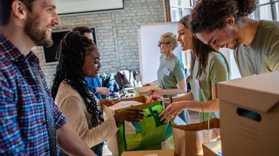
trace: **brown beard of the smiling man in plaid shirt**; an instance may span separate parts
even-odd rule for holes
[[[32,14],[28,15],[28,18],[25,23],[25,33],[32,39],[32,41],[36,44],[36,46],[45,46],[45,47],[50,47],[53,44],[52,38],[47,37],[47,30],[45,29],[40,29],[40,23],[39,21],[36,21],[33,18]]]

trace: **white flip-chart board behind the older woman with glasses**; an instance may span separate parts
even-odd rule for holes
[[[143,84],[157,80],[160,65],[160,49],[157,47],[160,36],[165,32],[177,34],[178,22],[139,25],[139,70]],[[180,45],[174,53],[182,60]]]

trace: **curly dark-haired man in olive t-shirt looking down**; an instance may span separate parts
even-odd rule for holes
[[[234,50],[241,77],[279,70],[279,22],[246,16],[257,0],[198,0],[189,28],[216,50]]]

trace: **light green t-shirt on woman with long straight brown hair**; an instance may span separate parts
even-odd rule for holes
[[[200,78],[197,78],[199,88],[195,84],[197,71],[198,60],[195,61],[190,85],[194,99],[199,102],[212,100],[211,86],[214,86],[216,82],[230,79],[224,58],[219,53],[213,51],[208,53],[208,65],[206,71],[201,74]],[[208,120],[208,115],[209,113],[204,113],[204,121]],[[202,112],[199,112],[199,117],[200,122],[203,122]],[[219,112],[210,113],[210,119],[215,117],[219,118]]]

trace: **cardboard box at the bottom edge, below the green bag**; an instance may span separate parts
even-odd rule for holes
[[[127,151],[123,152],[122,156],[145,156],[145,155],[151,155],[154,153],[157,156],[174,156],[174,150],[144,150],[144,151]],[[149,156],[148,155],[148,156]]]

